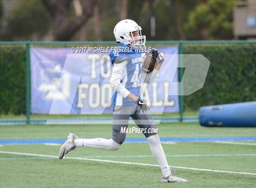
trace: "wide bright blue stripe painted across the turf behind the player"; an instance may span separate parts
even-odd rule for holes
[[[62,144],[66,139],[2,139],[0,144]],[[208,142],[208,141],[256,141],[256,137],[187,137],[187,138],[161,138],[167,142]],[[126,138],[125,143],[147,143],[146,138]]]

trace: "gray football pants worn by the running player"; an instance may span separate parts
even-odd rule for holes
[[[124,139],[126,139],[126,133],[121,133],[121,129],[126,127],[129,122],[129,118],[132,118],[135,121],[135,124],[139,128],[143,128],[144,130],[157,129],[157,126],[152,119],[152,116],[149,113],[143,113],[140,107],[138,106],[115,106],[113,112],[113,127],[112,127],[112,139],[118,144],[123,144]],[[143,133],[146,138],[152,135],[156,135],[157,133]]]

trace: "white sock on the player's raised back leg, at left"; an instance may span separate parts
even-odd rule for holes
[[[113,139],[105,138],[92,138],[92,139],[75,139],[74,144],[76,147],[91,147],[97,149],[106,149],[106,150],[117,150],[121,146],[118,143],[115,143]]]

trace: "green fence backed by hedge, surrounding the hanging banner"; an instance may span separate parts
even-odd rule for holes
[[[204,87],[189,96],[179,96],[179,113],[168,113],[162,122],[198,121],[201,106],[256,101],[256,41],[148,41],[152,47],[179,48],[183,54],[202,54],[210,60]],[[110,41],[0,42],[0,124],[109,124],[111,116],[33,115],[30,113],[30,47],[115,45]],[[182,70],[179,69],[182,78]],[[182,90],[182,86],[179,88]],[[95,121],[97,120],[97,121]]]

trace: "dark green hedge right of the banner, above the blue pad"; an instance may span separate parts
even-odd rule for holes
[[[202,54],[211,62],[204,87],[185,96],[186,111],[256,101],[256,44],[184,45],[183,53]]]

